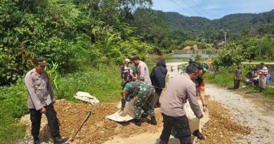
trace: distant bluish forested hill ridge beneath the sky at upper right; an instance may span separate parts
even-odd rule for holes
[[[226,15],[221,19],[209,20],[202,17],[187,17],[175,12],[157,13],[164,16],[169,25],[169,30],[183,29],[185,32],[199,35],[201,31],[228,29],[232,32],[242,32],[259,29],[274,24],[274,9],[266,13],[237,13]]]

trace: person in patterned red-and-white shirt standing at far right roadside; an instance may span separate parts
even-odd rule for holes
[[[259,92],[266,89],[266,75],[268,74],[268,67],[264,63],[260,63],[261,70],[259,71]]]

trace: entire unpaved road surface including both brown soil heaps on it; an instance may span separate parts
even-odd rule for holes
[[[177,70],[177,66],[181,64],[167,63],[169,77],[181,73],[181,70]],[[171,65],[174,72],[170,71]],[[210,120],[202,129],[206,140],[197,140],[197,143],[274,143],[274,100],[262,98],[258,93],[237,93],[239,92],[206,84]],[[60,100],[55,108],[60,121],[60,134],[66,137],[72,136],[87,110],[93,110],[94,114],[82,126],[72,143],[159,143],[162,132],[159,108],[155,109],[157,126],[147,124],[149,119],[143,119],[141,127],[130,122],[117,123],[106,119],[106,115],[117,111],[116,103],[102,103],[99,107],[93,107]],[[20,143],[32,143],[30,116],[25,115],[21,121],[28,128],[27,135]],[[52,143],[46,123],[46,118],[43,117],[39,137],[42,143]],[[178,139],[171,137],[169,144],[176,143],[179,143]]]

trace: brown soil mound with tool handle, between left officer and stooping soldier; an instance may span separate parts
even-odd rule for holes
[[[113,136],[122,136],[127,138],[131,135],[141,134],[144,132],[155,132],[159,129],[157,126],[147,124],[148,118],[142,119],[141,127],[136,126],[131,122],[117,123],[113,122],[105,116],[116,112],[117,103],[100,103],[98,107],[93,107],[86,104],[76,104],[67,100],[59,100],[54,104],[60,124],[60,135],[70,138],[78,129],[79,125],[86,117],[87,111],[91,110],[93,114],[81,127],[77,136],[74,137],[72,143],[103,143],[111,140]],[[159,108],[156,111],[158,122],[162,122]],[[30,126],[30,116],[25,116],[25,123]],[[42,117],[40,139],[42,143],[51,143],[48,126],[45,125],[46,117]],[[44,124],[43,124],[44,123]],[[43,126],[45,125],[45,126]],[[30,127],[27,128],[27,135],[30,136]],[[30,138],[29,138],[30,139]]]

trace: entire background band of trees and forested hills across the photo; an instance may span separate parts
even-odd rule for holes
[[[192,44],[211,48],[204,42],[218,47],[221,29],[230,29],[228,41],[273,34],[274,11],[208,20],[153,11],[150,6],[151,0],[1,1],[0,85],[22,79],[37,56],[56,63],[63,74],[85,65],[121,64],[131,55],[145,58],[155,50],[161,54]],[[272,46],[262,44],[266,49],[261,55]],[[272,53],[266,56],[273,58]]]

